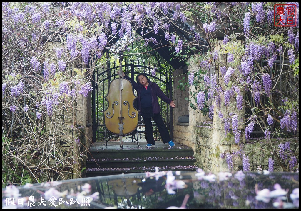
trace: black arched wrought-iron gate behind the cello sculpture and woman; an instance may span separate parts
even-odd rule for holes
[[[136,75],[139,73],[144,73],[147,77],[150,78],[152,82],[155,82],[159,85],[162,91],[166,94],[167,97],[172,99],[172,68],[169,67],[168,70],[163,68],[158,68],[156,70],[159,77],[151,75],[151,70],[153,68],[146,66],[145,63],[140,64],[139,60],[134,63],[134,60],[130,60],[129,62],[125,60],[125,65],[123,65],[123,71],[132,79],[135,80]],[[112,68],[110,68],[110,63],[107,63],[107,68],[96,68],[94,74],[92,76],[92,131],[93,137],[92,141],[95,143],[96,141],[105,141],[104,136],[110,137],[110,133],[105,131],[104,126],[104,118],[102,111],[106,110],[108,104],[105,100],[105,96],[108,93],[108,88],[110,82],[119,77],[117,71],[119,70],[119,66],[116,66],[116,62],[113,63]],[[135,95],[137,96],[137,92],[134,90]],[[161,107],[161,114],[162,119],[165,122],[170,136],[173,138],[173,127],[172,127],[172,109],[170,109],[169,105],[166,104],[164,101],[161,101],[159,98],[159,104]],[[135,105],[135,101],[134,101]],[[159,137],[159,131],[155,122],[153,122],[154,128],[154,137]],[[105,135],[106,132],[106,135]],[[136,133],[136,131],[135,131]],[[139,114],[138,117],[138,127],[137,127],[137,134],[138,140],[145,139],[145,131],[144,131],[144,124],[141,115]],[[135,136],[136,136],[135,135]]]

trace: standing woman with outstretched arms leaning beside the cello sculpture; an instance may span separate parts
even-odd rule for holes
[[[119,71],[118,71],[119,74]],[[132,82],[134,89],[138,93],[138,104],[137,110],[141,110],[141,116],[144,120],[145,133],[146,133],[146,147],[154,147],[155,140],[153,134],[153,125],[152,118],[154,119],[160,136],[163,140],[163,143],[168,143],[170,147],[175,146],[173,143],[168,129],[164,124],[161,116],[161,108],[159,105],[158,97],[161,98],[164,102],[168,103],[171,107],[175,107],[175,101],[169,99],[160,89],[157,83],[151,82],[148,77],[140,73],[137,75],[137,83],[132,80],[130,77],[126,76],[124,72],[122,73],[123,77],[129,79]]]

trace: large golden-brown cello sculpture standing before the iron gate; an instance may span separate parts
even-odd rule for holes
[[[122,55],[119,53],[119,78],[112,80],[109,92],[105,99],[108,108],[104,113],[104,125],[107,130],[120,138],[120,147],[123,147],[123,136],[134,132],[138,126],[138,113],[133,103],[136,96],[133,92],[132,83],[123,78]],[[106,142],[106,141],[105,141]],[[137,144],[139,146],[138,140]]]

